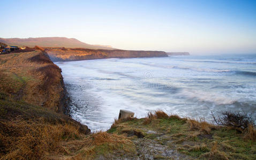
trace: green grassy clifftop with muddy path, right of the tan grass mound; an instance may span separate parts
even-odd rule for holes
[[[256,142],[246,133],[178,116],[117,121],[108,132],[145,136],[132,139],[142,159],[256,159]]]

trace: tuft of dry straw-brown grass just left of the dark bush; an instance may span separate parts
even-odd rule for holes
[[[191,130],[198,130],[205,134],[210,134],[210,131],[212,131],[212,129],[215,129],[216,127],[213,124],[207,123],[203,119],[199,119],[199,121],[195,119],[189,119],[187,120],[187,122],[190,124]]]

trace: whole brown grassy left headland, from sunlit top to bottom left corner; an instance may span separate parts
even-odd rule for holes
[[[0,159],[65,153],[89,132],[63,114],[61,70],[42,51],[0,55]]]

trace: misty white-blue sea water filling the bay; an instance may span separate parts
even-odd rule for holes
[[[181,117],[244,111],[256,118],[256,55],[172,56],[56,62],[71,116],[107,130],[120,109],[138,118],[161,109]]]

